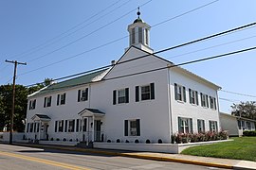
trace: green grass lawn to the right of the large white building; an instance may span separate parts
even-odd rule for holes
[[[231,138],[234,141],[192,146],[181,152],[185,155],[256,161],[256,137]]]

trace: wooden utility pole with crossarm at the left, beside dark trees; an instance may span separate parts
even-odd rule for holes
[[[11,113],[10,113],[10,129],[9,129],[9,144],[12,144],[12,131],[13,131],[13,116],[15,110],[15,80],[16,80],[16,73],[17,73],[17,65],[27,65],[26,62],[18,62],[17,60],[8,60],[6,62],[14,64],[14,75],[13,75],[13,83],[12,83],[12,106],[11,106]]]

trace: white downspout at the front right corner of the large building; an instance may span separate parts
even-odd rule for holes
[[[172,143],[172,135],[173,135],[173,128],[172,128],[172,107],[171,107],[171,77],[170,77],[170,69],[167,68],[167,76],[168,76],[168,86],[167,86],[167,92],[168,92],[168,120],[169,120],[169,138]]]

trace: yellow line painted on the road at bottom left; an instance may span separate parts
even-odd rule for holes
[[[14,157],[22,160],[27,160],[27,161],[37,161],[45,164],[50,164],[53,166],[59,166],[63,167],[65,169],[72,169],[72,170],[89,170],[88,168],[82,167],[82,166],[77,166],[73,164],[68,164],[64,162],[58,162],[58,161],[49,161],[45,159],[39,159],[39,158],[34,158],[34,157],[28,157],[25,155],[20,155],[20,154],[14,154],[14,153],[9,153],[9,152],[3,152],[0,151],[0,155],[8,156],[8,157]]]

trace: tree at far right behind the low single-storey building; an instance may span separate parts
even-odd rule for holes
[[[231,106],[231,114],[256,120],[256,101],[241,102]]]

